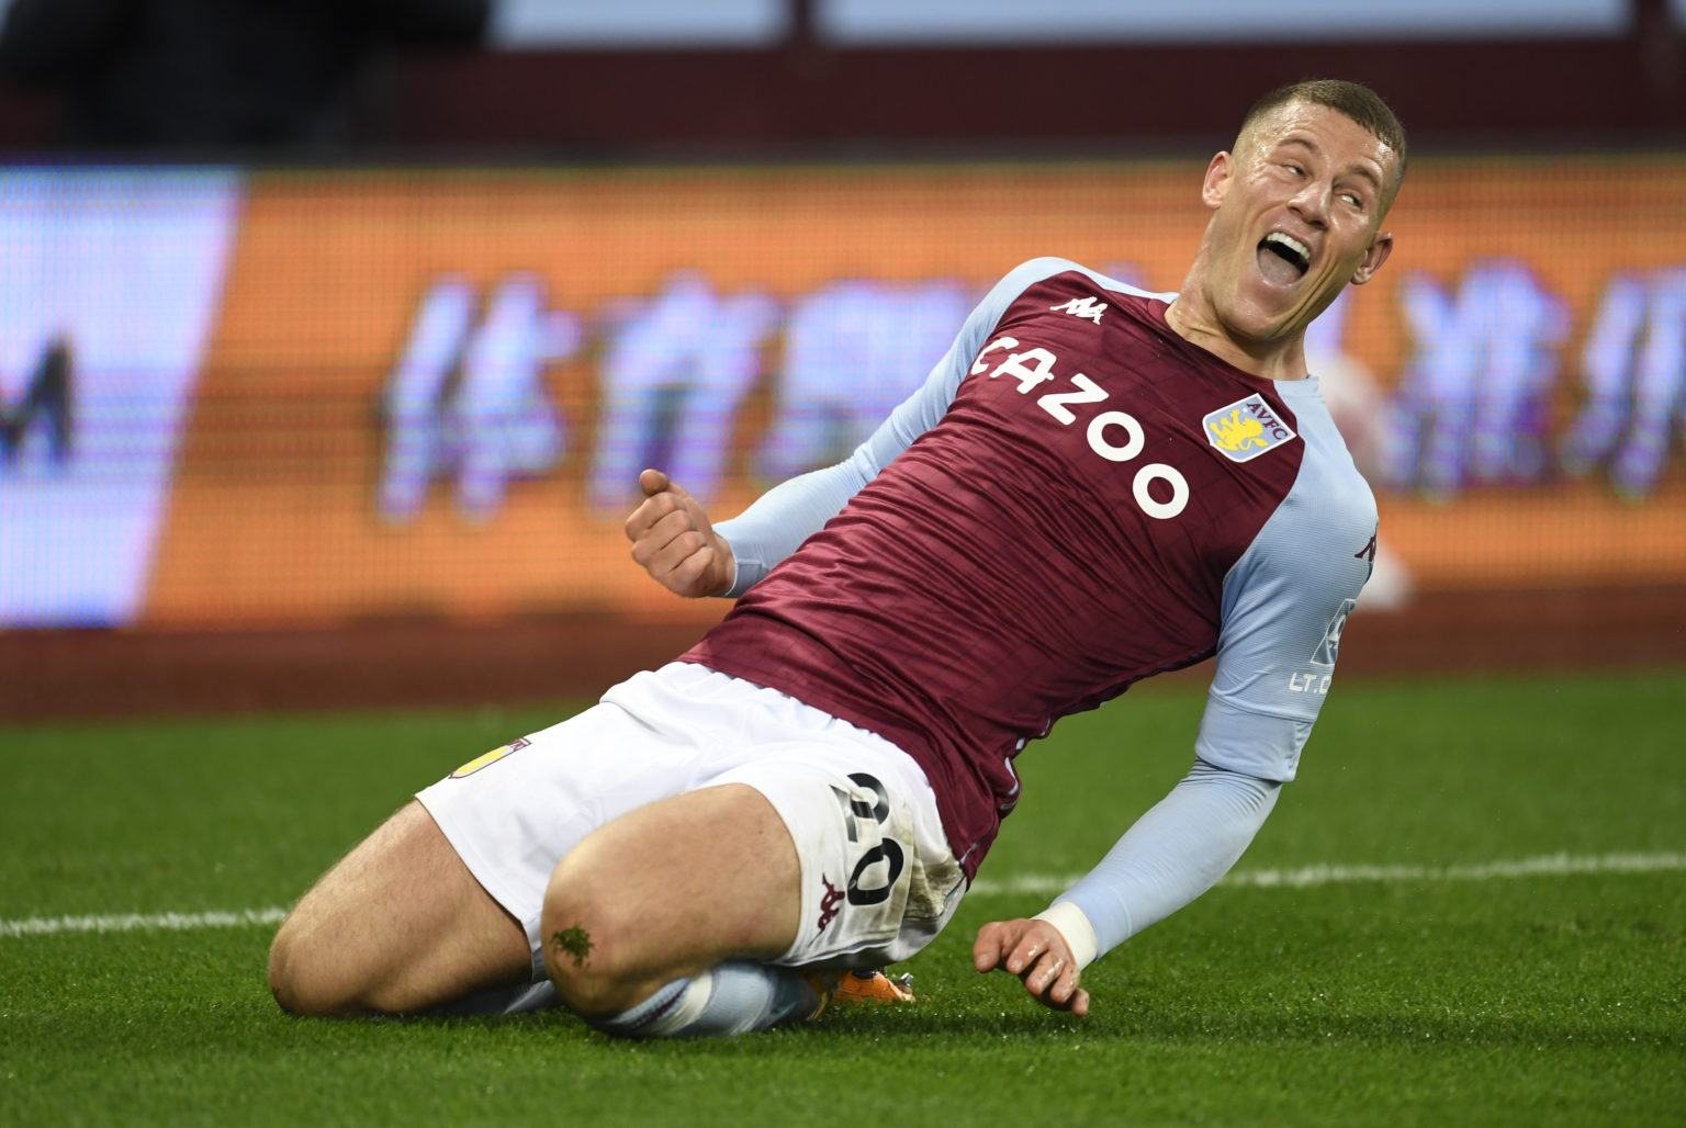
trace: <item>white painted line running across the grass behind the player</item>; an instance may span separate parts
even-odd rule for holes
[[[1686,853],[1548,853],[1514,862],[1477,862],[1463,865],[1307,865],[1293,870],[1236,870],[1219,885],[1231,889],[1313,889],[1318,885],[1352,885],[1357,882],[1490,882],[1516,877],[1568,877],[1575,873],[1659,873],[1686,870]],[[990,897],[1000,894],[1039,894],[1052,897],[1071,889],[1081,873],[1025,873],[1007,878],[983,878],[971,892]],[[189,929],[229,929],[280,924],[287,909],[238,909],[233,912],[126,912],[120,916],[29,917],[0,921],[0,939],[15,936],[59,936],[64,932],[167,932]]]

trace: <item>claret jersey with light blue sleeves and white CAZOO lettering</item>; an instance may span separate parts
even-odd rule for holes
[[[1369,575],[1317,381],[1184,341],[1172,297],[1025,263],[848,462],[720,526],[742,595],[685,659],[907,750],[968,875],[1027,740],[1212,654],[1199,757],[1291,779]]]

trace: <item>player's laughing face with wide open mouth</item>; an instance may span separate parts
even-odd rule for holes
[[[1398,153],[1362,125],[1300,101],[1214,157],[1205,292],[1224,332],[1238,344],[1290,337],[1349,282],[1369,282],[1393,250],[1381,221],[1396,169]]]

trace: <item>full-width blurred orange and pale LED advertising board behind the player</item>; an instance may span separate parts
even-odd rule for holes
[[[706,617],[725,516],[843,457],[1015,263],[1173,290],[1200,162],[7,170],[0,626]],[[1377,605],[1686,577],[1686,160],[1420,158],[1312,336]]]

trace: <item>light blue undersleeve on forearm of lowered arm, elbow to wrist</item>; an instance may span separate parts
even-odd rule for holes
[[[1195,760],[1099,865],[1039,916],[1060,929],[1079,964],[1106,954],[1216,885],[1280,791],[1278,782]]]

